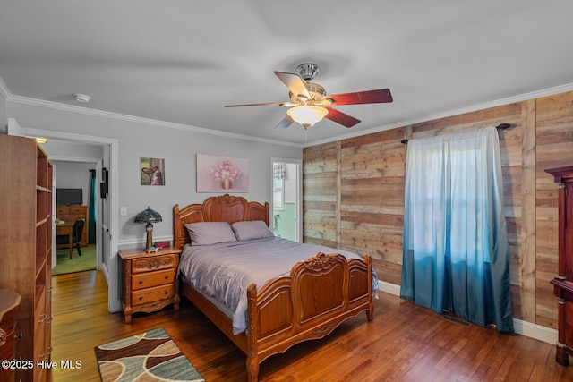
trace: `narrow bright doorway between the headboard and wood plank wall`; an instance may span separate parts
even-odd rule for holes
[[[272,217],[270,228],[275,236],[301,241],[302,162],[272,158]]]

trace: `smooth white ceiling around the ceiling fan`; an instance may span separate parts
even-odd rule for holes
[[[571,0],[0,0],[0,78],[9,99],[304,145],[568,85],[572,17]],[[329,94],[394,102],[306,137],[274,129],[286,108],[223,107],[287,101],[273,71],[307,62]]]

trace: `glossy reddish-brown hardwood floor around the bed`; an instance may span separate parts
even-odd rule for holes
[[[246,357],[225,335],[182,301],[124,324],[107,312],[101,272],[53,277],[52,361],[81,361],[53,369],[55,382],[99,381],[94,346],[164,327],[207,382],[245,381]],[[360,314],[331,335],[297,344],[261,363],[261,381],[573,381],[573,366],[555,362],[555,345],[493,328],[463,327],[431,310],[381,293],[374,320]]]

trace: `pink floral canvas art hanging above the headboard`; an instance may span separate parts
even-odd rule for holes
[[[249,160],[197,154],[197,192],[248,192]]]

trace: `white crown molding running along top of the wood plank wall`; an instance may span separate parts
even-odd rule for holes
[[[373,132],[384,132],[386,130],[396,129],[398,127],[404,127],[404,126],[408,126],[410,124],[434,121],[434,120],[437,120],[440,118],[447,118],[447,117],[454,116],[454,115],[463,115],[466,113],[472,113],[475,111],[489,109],[492,107],[509,105],[509,104],[512,104],[515,102],[522,102],[522,101],[526,101],[528,99],[542,98],[542,97],[552,96],[554,94],[565,93],[565,92],[571,91],[571,90],[573,90],[573,82],[565,84],[565,85],[555,86],[552,88],[535,90],[535,91],[532,91],[529,93],[524,93],[524,94],[520,94],[520,95],[513,96],[513,97],[500,98],[500,99],[496,99],[494,101],[483,102],[482,104],[477,104],[474,106],[462,107],[459,109],[451,110],[449,112],[440,113],[437,115],[426,115],[426,116],[423,116],[420,118],[415,118],[415,119],[411,119],[411,120],[407,120],[407,121],[400,121],[397,123],[384,124],[382,126],[374,127],[372,129],[369,129],[369,130],[363,130],[361,132],[338,135],[338,137],[332,138],[329,140],[314,140],[312,142],[308,142],[307,144],[305,144],[304,147],[308,148],[311,146],[321,145],[323,143],[329,143],[329,142],[338,141],[338,140],[346,140],[348,138],[355,138],[355,137],[358,137],[361,135],[372,134]]]

